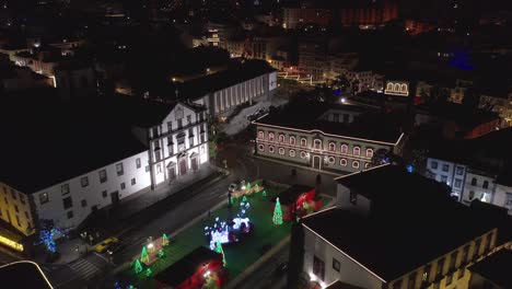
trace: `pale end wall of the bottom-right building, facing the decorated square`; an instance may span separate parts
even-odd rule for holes
[[[322,259],[325,264],[324,280],[313,273],[314,256]],[[340,270],[335,270],[333,259],[340,263]],[[303,270],[311,279],[319,282],[321,286],[331,284],[336,280],[359,286],[361,288],[380,289],[383,288],[383,281],[371,274],[369,270],[358,265],[347,255],[335,248],[333,245],[318,238],[307,228],[304,229],[304,268]]]

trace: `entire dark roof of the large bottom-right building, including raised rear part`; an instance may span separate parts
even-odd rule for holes
[[[333,208],[303,218],[303,224],[386,281],[494,228],[492,221],[482,221],[486,217],[452,200],[435,182],[397,166],[337,181],[372,199],[371,213]],[[418,206],[404,205],[418,199]]]

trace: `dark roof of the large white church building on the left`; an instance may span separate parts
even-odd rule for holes
[[[0,180],[26,194],[146,151],[131,128],[158,123],[173,107],[135,97],[61,103],[55,92],[0,101],[0,130],[11,140],[0,143]]]

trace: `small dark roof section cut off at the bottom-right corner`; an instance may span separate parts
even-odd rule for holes
[[[469,270],[479,274],[500,288],[512,288],[510,268],[512,268],[512,251],[503,248],[470,266]]]

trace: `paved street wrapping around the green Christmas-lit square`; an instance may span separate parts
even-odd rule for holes
[[[118,235],[125,244],[125,248],[112,259],[106,254],[90,253],[68,265],[43,265],[43,269],[56,288],[108,287],[112,286],[115,276],[105,276],[105,274],[130,262],[135,255],[140,253],[149,236],[159,238],[163,232],[171,235],[196,217],[208,213],[208,210],[217,204],[226,201],[226,188],[234,181],[251,181],[263,177],[289,184],[315,184],[316,172],[296,169],[296,175],[292,176],[291,167],[286,164],[247,158],[247,152],[251,150],[247,142],[244,143],[238,139],[225,146],[219,152],[217,163],[221,166],[223,160],[226,160],[231,174],[214,184],[205,183],[195,187],[187,192],[191,197],[160,208],[159,211],[151,215],[152,219],[150,220],[132,221],[130,230]],[[333,178],[333,175],[322,176],[322,184],[318,186],[322,193],[335,195],[336,186]],[[244,282],[244,288],[283,288],[286,278],[280,278],[275,269],[288,259],[287,256],[288,246],[261,266],[255,276]],[[266,287],[259,286],[260,280],[267,280]],[[256,287],[251,287],[252,282]]]

